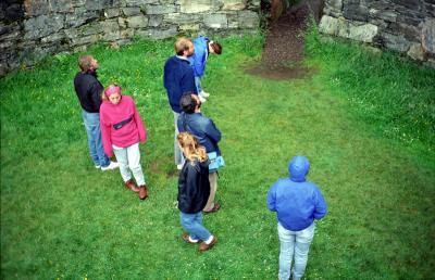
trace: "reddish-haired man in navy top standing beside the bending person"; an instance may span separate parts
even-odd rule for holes
[[[174,157],[177,169],[182,169],[184,157],[182,150],[179,150],[176,136],[178,129],[176,122],[178,114],[182,112],[179,107],[179,99],[185,92],[194,92],[197,94],[195,86],[194,69],[190,66],[187,58],[194,54],[194,43],[187,38],[179,38],[174,43],[176,55],[167,59],[164,64],[163,85],[167,92],[167,100],[174,113],[175,137],[174,137]]]

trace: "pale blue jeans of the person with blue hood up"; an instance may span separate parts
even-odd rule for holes
[[[308,251],[314,237],[314,222],[306,229],[291,231],[278,222],[279,251],[279,280],[288,280],[291,271],[291,260],[295,256],[293,279],[300,279],[307,267]]]

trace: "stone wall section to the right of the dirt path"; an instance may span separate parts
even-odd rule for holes
[[[320,30],[435,66],[435,0],[325,0]]]

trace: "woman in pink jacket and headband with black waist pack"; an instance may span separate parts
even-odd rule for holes
[[[104,90],[102,100],[100,123],[104,152],[109,157],[115,154],[125,188],[138,192],[139,199],[145,200],[148,192],[140,166],[139,142],[147,141],[147,130],[139,112],[133,99],[122,96],[116,85]],[[132,173],[137,183],[133,181]]]

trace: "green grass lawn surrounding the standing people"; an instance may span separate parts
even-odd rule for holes
[[[203,254],[182,242],[173,205],[173,116],[162,86],[172,40],[89,51],[102,82],[134,96],[148,128],[146,202],[119,171],[94,169],[72,85],[76,54],[1,79],[1,278],[276,279],[265,194],[295,154],[310,158],[309,178],[330,207],[307,279],[432,278],[435,72],[312,31],[307,63],[318,74],[265,80],[244,68],[262,40],[222,39],[224,54],[208,63],[203,111],[223,132],[227,167],[223,207],[204,217],[220,241]]]

